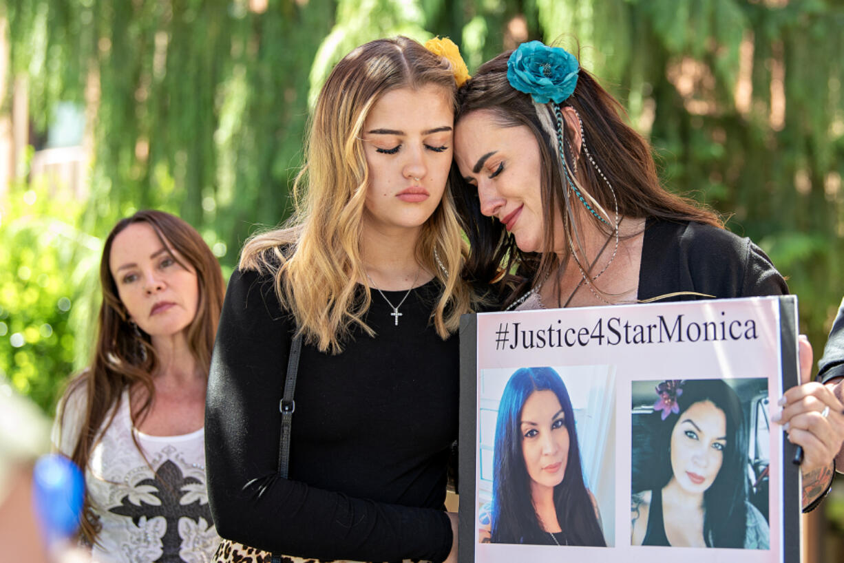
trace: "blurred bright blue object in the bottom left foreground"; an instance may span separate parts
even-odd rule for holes
[[[57,454],[35,462],[32,501],[48,545],[76,533],[83,500],[84,479],[75,463]]]

